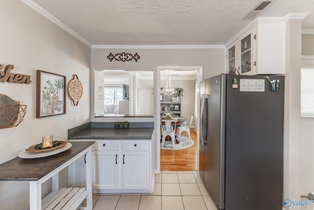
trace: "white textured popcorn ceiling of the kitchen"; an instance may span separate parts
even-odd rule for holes
[[[93,45],[223,45],[251,20],[261,0],[24,0],[33,1]],[[314,0],[273,0],[259,16],[311,12]]]

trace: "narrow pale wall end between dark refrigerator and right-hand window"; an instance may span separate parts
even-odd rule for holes
[[[284,200],[301,195],[301,20],[286,23]],[[291,206],[289,210],[300,210]]]

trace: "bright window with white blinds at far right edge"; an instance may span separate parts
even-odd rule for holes
[[[301,117],[314,118],[314,68],[301,68]]]

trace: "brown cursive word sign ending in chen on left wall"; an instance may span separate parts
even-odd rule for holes
[[[0,64],[0,70],[3,69],[4,65]],[[14,65],[7,65],[4,71],[0,71],[0,82],[8,82],[8,83],[25,83],[29,84],[30,75],[22,75],[22,74],[13,74],[10,71],[14,68]]]

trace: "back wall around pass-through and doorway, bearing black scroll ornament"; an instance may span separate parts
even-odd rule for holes
[[[133,61],[116,61],[107,59],[107,56],[112,53],[137,53],[140,59],[137,62]],[[225,49],[224,47],[217,48],[92,48],[91,52],[91,68],[95,70],[141,70],[141,71],[157,71],[158,66],[202,66],[203,78],[209,78],[221,73],[224,73],[225,65]],[[94,78],[94,71],[91,72],[91,77]],[[156,75],[156,74],[155,74]],[[154,78],[155,78],[154,75]],[[159,79],[159,78],[158,78]],[[156,79],[155,79],[156,80]],[[91,81],[91,87],[94,87],[94,82]],[[92,89],[93,90],[93,89]],[[93,90],[94,91],[94,90]],[[185,90],[184,90],[185,91]],[[92,92],[94,96],[94,92]],[[94,98],[91,98],[91,113],[94,113]],[[114,118],[93,118],[92,121],[115,121]],[[131,118],[130,121],[143,121],[154,119],[149,118]]]

